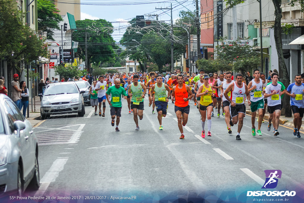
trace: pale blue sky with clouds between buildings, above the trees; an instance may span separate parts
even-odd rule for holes
[[[191,11],[195,10],[195,1],[193,2],[193,0],[166,0],[165,2],[161,0],[81,0],[81,3],[81,20],[105,19],[112,22],[112,25],[115,28],[115,31],[112,33],[112,37],[116,42],[119,42],[123,33],[125,33],[126,27],[128,26],[127,21],[135,18],[136,16],[158,14],[160,15],[158,20],[166,21],[171,19],[170,10],[156,10],[155,8],[170,8],[170,4],[172,3],[172,16],[174,21],[178,19],[179,11],[187,9]],[[83,5],[83,3],[128,5]],[[145,16],[145,19],[147,18],[148,17]]]

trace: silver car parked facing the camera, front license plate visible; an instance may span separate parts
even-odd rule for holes
[[[41,118],[47,119],[51,115],[72,113],[78,113],[78,116],[83,117],[85,115],[83,93],[85,91],[80,91],[75,82],[49,84],[41,100]]]

